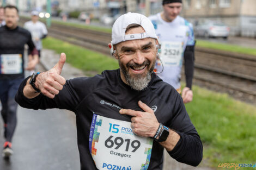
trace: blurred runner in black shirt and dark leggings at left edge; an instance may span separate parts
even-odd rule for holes
[[[27,70],[33,70],[38,64],[38,51],[32,41],[31,33],[18,26],[19,11],[13,5],[4,8],[6,25],[0,27],[0,98],[1,115],[4,121],[3,146],[4,158],[13,154],[11,140],[17,124],[17,103],[15,93],[24,78],[24,45],[27,44],[33,59],[28,62]]]

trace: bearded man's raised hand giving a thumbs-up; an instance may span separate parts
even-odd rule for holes
[[[38,88],[42,94],[49,98],[54,98],[59,91],[63,89],[66,79],[60,75],[62,68],[66,61],[66,54],[60,54],[58,63],[49,71],[38,74],[35,81],[35,87]]]

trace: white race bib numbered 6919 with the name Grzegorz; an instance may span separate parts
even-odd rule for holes
[[[148,169],[153,140],[132,133],[131,122],[93,115],[89,148],[97,169]]]

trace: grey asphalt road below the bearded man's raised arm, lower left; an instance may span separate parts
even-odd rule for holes
[[[3,170],[78,170],[75,114],[66,110],[29,110],[19,107],[13,138],[14,154],[0,159]],[[3,123],[0,127],[2,130]],[[0,137],[0,143],[3,143]]]

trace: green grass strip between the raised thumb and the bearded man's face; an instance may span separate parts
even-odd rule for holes
[[[83,47],[71,45],[68,42],[47,37],[42,41],[44,48],[52,49],[56,53],[65,53],[66,61],[83,71],[101,73],[103,70],[114,70],[119,67],[118,61],[110,56],[95,53]]]

